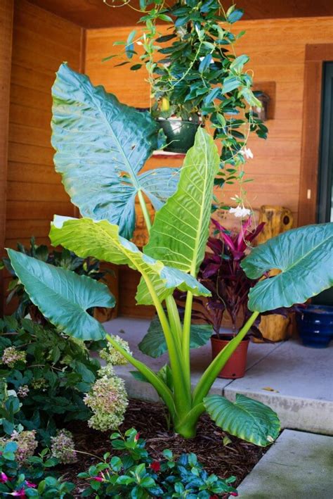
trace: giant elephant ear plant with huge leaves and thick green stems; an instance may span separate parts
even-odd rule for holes
[[[129,176],[129,164],[133,159],[129,143],[134,145],[133,151],[136,147],[137,151],[141,150],[141,138],[146,140],[150,136],[149,118],[146,117],[145,123],[136,121],[138,116],[134,111],[122,108],[115,98],[105,94],[101,88],[94,89],[86,77],[76,75],[67,66],[60,68],[60,75],[60,82],[58,74],[55,87],[59,84],[61,92],[55,91],[53,118],[53,144],[58,150],[56,168],[63,172],[65,187],[85,217],[68,219],[55,216],[50,234],[52,244],[57,246],[61,243],[81,258],[94,256],[111,263],[127,264],[141,272],[136,300],[141,304],[155,305],[159,320],[155,330],[159,334],[162,329],[169,366],[162,372],[153,372],[124,350],[117,339],[105,334],[101,324],[86,313],[87,308],[93,305],[112,305],[113,298],[103,284],[92,283],[84,277],[73,277],[70,272],[50,268],[46,263],[36,263],[26,255],[8,250],[16,274],[31,300],[63,331],[82,339],[106,336],[112,346],[136,367],[141,378],[155,387],[169,409],[174,429],[179,434],[188,438],[194,436],[198,418],[207,411],[216,424],[231,434],[267,446],[280,431],[275,412],[241,395],[237,396],[235,403],[222,396],[209,396],[209,390],[259,312],[289,306],[294,301],[305,301],[332,285],[332,265],[329,265],[327,251],[332,251],[333,225],[311,226],[282,234],[259,246],[243,260],[242,267],[252,279],[266,275],[272,267],[280,268],[282,273],[252,288],[249,301],[249,308],[254,311],[252,317],[211,362],[192,391],[190,348],[193,342],[195,346],[202,344],[202,338],[194,341],[198,331],[194,334],[191,327],[191,309],[194,296],[209,295],[196,276],[209,236],[214,176],[219,163],[216,145],[207,132],[201,128],[198,130],[195,145],[188,151],[181,168],[178,185],[174,186],[174,194],[168,193],[166,203],[160,201],[154,224],[151,225],[142,196],[143,189],[133,187],[136,173],[134,175],[132,171]],[[92,98],[96,95],[97,103]],[[61,104],[58,106],[59,99]],[[107,113],[103,115],[105,110]],[[126,127],[121,110],[126,114]],[[145,126],[148,135],[142,128]],[[146,156],[148,153],[138,158],[140,168]],[[119,162],[122,164],[120,170],[117,166]],[[133,168],[138,171],[136,164]],[[158,177],[159,174],[156,175]],[[96,176],[99,176],[98,179]],[[108,189],[108,178],[111,179],[111,186],[117,180],[116,198],[112,197],[113,187]],[[139,194],[150,232],[150,241],[143,252],[124,238],[124,234],[131,234],[133,220],[127,226],[127,217],[115,202],[124,194],[125,202],[120,204],[127,210],[129,183],[131,196],[133,191]],[[163,190],[164,184],[157,187]],[[148,191],[145,193],[149,195]],[[159,199],[162,198],[163,195],[159,195]],[[105,206],[107,210],[103,210]],[[173,297],[176,289],[187,293],[183,322]]]

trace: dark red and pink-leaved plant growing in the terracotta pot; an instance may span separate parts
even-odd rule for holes
[[[207,242],[211,251],[206,253],[198,274],[198,280],[211,291],[211,296],[195,299],[203,307],[195,311],[193,318],[211,324],[219,338],[224,312],[230,316],[233,334],[237,332],[237,316],[247,316],[249,290],[257,281],[247,277],[240,263],[265,224],[251,229],[252,219],[249,217],[239,232],[230,232],[216,220],[212,222],[216,231]]]

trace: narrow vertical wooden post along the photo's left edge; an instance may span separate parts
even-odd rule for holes
[[[6,187],[9,94],[11,87],[11,48],[14,0],[0,1],[0,244],[4,252],[6,237]],[[0,308],[4,305],[4,279],[0,272]]]

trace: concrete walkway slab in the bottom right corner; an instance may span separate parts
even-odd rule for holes
[[[331,499],[332,468],[332,436],[285,430],[237,491],[240,499]]]

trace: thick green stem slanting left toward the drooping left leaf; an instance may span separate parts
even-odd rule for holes
[[[169,409],[171,417],[175,417],[176,408],[174,405],[174,398],[170,389],[166,386],[162,379],[160,379],[149,367],[143,364],[143,362],[140,362],[140,360],[136,360],[135,358],[133,358],[133,356],[124,348],[122,348],[117,340],[113,339],[110,334],[106,335],[106,339],[116,350],[118,350],[123,355],[126,360],[131,363],[131,365],[136,367],[136,369],[138,369],[138,371],[143,374],[143,376],[152,384],[152,386],[154,386],[159,396],[166,403],[166,407]]]

